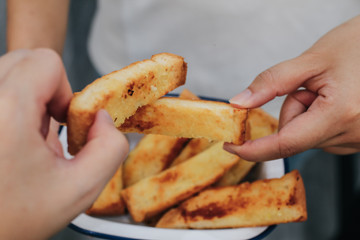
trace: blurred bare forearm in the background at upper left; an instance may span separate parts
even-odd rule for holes
[[[45,47],[61,54],[69,0],[7,0],[7,50]]]

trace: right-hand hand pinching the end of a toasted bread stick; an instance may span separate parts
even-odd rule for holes
[[[359,41],[360,17],[356,17],[330,31],[301,56],[261,73],[230,102],[254,108],[288,94],[279,132],[224,148],[252,161],[288,157],[310,148],[337,154],[358,152]]]

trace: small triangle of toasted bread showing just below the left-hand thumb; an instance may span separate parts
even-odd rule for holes
[[[120,195],[122,189],[123,181],[121,165],[86,213],[89,215],[101,216],[124,214],[125,203]]]

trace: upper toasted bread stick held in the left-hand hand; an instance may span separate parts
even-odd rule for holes
[[[161,53],[96,79],[75,93],[67,118],[69,153],[76,154],[85,144],[99,109],[106,109],[118,127],[139,107],[183,85],[186,71],[182,57]]]

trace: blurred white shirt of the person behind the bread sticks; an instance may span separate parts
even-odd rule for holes
[[[186,88],[229,99],[359,10],[356,0],[99,0],[89,54],[103,75],[175,53],[188,63]],[[265,110],[278,117],[282,100]]]

